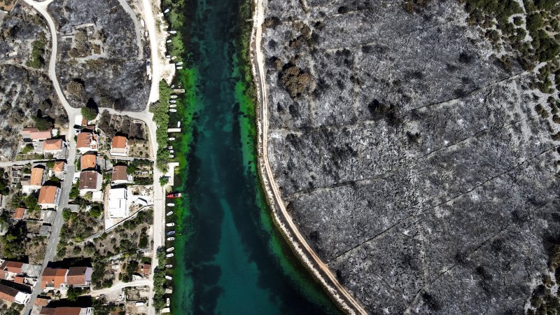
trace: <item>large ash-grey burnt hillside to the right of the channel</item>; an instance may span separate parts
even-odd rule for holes
[[[522,313],[559,243],[554,124],[454,1],[268,1],[269,159],[372,314]]]

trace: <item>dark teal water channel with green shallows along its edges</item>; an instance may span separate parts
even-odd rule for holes
[[[193,146],[177,218],[173,314],[339,314],[272,224],[242,139],[235,40],[242,0],[186,1],[183,34],[196,69]],[[237,90],[236,90],[237,86]],[[242,94],[242,93],[241,93]],[[188,235],[188,237],[187,237]]]

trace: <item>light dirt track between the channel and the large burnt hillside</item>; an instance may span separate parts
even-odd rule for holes
[[[258,169],[260,178],[266,191],[268,204],[272,209],[274,221],[283,232],[284,237],[290,242],[295,253],[304,262],[306,267],[316,276],[318,281],[327,289],[328,293],[349,314],[367,314],[363,306],[349,293],[329,267],[318,257],[313,248],[297,230],[286,206],[281,198],[280,190],[274,181],[274,174],[268,160],[268,97],[266,76],[262,56],[262,23],[264,22],[264,8],[262,1],[254,0],[253,31],[251,34],[251,64],[253,78],[258,94]]]

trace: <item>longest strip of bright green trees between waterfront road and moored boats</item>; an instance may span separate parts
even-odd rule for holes
[[[153,120],[158,127],[155,130],[156,141],[158,141],[156,165],[162,172],[167,171],[167,162],[169,161],[167,127],[169,126],[169,97],[171,97],[172,92],[171,87],[162,80],[160,82],[160,102],[150,107],[150,111],[153,113]]]

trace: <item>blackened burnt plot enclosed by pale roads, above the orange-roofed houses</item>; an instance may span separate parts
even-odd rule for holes
[[[59,35],[57,76],[70,104],[144,110],[150,50],[127,1],[56,0],[48,10]]]

